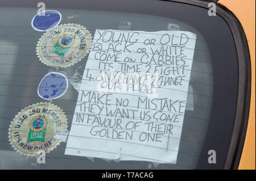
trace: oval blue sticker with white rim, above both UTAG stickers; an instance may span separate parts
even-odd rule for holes
[[[36,31],[47,31],[56,27],[61,21],[61,14],[55,10],[42,11],[35,15],[31,21],[31,26]]]

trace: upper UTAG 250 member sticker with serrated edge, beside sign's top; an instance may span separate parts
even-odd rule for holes
[[[39,60],[66,68],[80,61],[92,45],[90,32],[79,24],[63,24],[43,34],[36,46]]]

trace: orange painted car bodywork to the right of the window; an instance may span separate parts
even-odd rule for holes
[[[238,169],[255,170],[255,0],[220,0],[240,20],[251,56],[251,102],[245,145]]]

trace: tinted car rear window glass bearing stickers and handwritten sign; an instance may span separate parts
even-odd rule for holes
[[[167,1],[46,7],[52,27],[30,3],[0,8],[1,169],[201,169],[209,150],[223,168],[238,87],[224,19]]]

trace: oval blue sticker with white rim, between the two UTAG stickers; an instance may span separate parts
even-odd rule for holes
[[[38,86],[38,95],[43,99],[57,99],[68,88],[68,79],[64,74],[51,72],[46,74]]]

